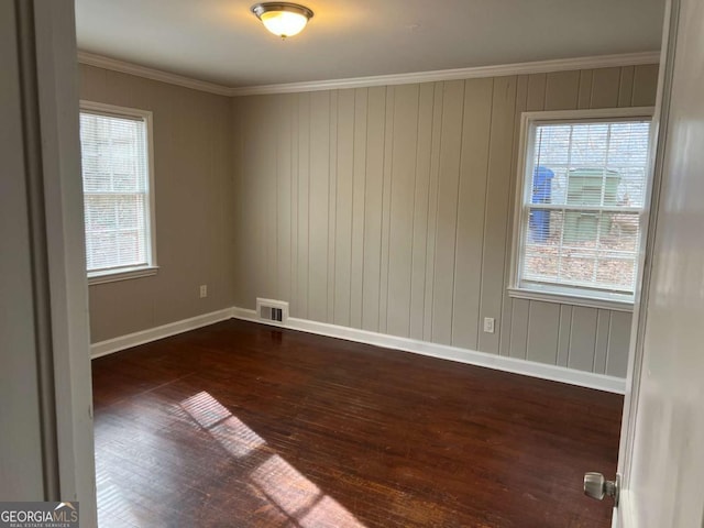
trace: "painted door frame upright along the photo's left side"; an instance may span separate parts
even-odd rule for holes
[[[46,358],[42,409],[47,436],[45,501],[78,501],[80,524],[97,526],[88,282],[78,129],[78,64],[74,0],[15,1],[24,156],[33,167],[28,199],[35,318]],[[51,449],[50,449],[51,448]]]

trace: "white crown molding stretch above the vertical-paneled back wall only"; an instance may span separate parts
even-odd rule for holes
[[[366,88],[372,86],[409,85],[437,80],[474,79],[481,77],[504,77],[507,75],[549,74],[571,69],[608,68],[658,64],[660,52],[624,53],[619,55],[597,55],[593,57],[558,58],[532,63],[502,64],[497,66],[477,66],[472,68],[439,69],[413,74],[377,75],[348,79],[318,80],[311,82],[289,82],[282,85],[248,86],[232,88],[230,95],[255,96],[267,94],[295,94],[300,91],[320,91],[341,88]]]

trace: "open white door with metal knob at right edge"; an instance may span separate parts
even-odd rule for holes
[[[704,2],[669,11],[661,186],[619,453],[624,528],[704,527]]]

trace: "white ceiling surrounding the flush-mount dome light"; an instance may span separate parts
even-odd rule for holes
[[[76,0],[78,47],[230,87],[660,48],[664,0],[306,0],[280,41],[254,0]]]

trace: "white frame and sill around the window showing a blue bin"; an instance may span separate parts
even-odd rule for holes
[[[557,111],[539,111],[522,112],[520,118],[520,140],[518,150],[518,167],[516,173],[516,195],[514,202],[514,230],[510,257],[510,275],[508,295],[513,298],[542,300],[548,302],[569,304],[574,306],[584,306],[590,308],[604,308],[618,311],[632,311],[635,293],[632,295],[616,292],[600,292],[597,289],[588,289],[581,286],[570,285],[541,285],[532,283],[526,285],[521,283],[520,265],[525,254],[526,230],[528,222],[526,221],[526,193],[527,193],[527,169],[528,162],[531,160],[531,151],[535,146],[535,134],[532,131],[538,124],[544,123],[579,123],[586,121],[619,121],[619,120],[651,120],[650,127],[650,152],[648,153],[648,167],[646,169],[646,194],[645,202],[639,212],[640,226],[644,226],[644,217],[648,212],[650,188],[652,186],[652,145],[654,127],[652,118],[654,114],[653,107],[629,107],[629,108],[604,108],[592,110],[557,110]],[[645,233],[641,231],[638,240],[638,249],[636,254],[642,252],[645,243]],[[640,258],[636,257],[636,266],[640,263]],[[636,267],[636,277],[639,277],[639,270]],[[636,286],[637,289],[637,286]]]

